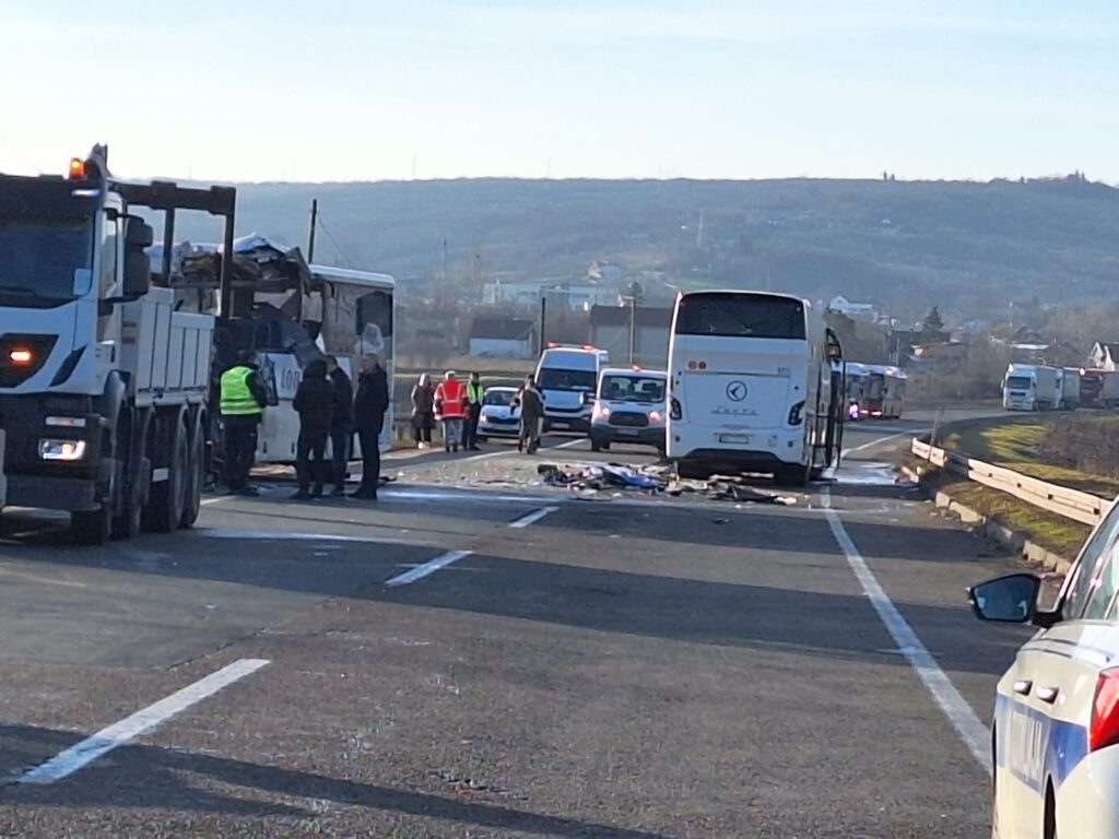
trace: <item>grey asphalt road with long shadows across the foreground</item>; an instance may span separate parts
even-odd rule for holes
[[[6,512],[0,837],[987,836],[967,738],[1024,633],[888,474],[927,423],[791,506],[483,490],[526,460],[489,446],[104,548]]]

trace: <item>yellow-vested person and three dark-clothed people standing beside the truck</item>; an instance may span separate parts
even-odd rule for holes
[[[256,359],[245,353],[222,375],[220,413],[225,428],[225,468],[229,492],[256,494],[248,483],[256,454],[257,426],[267,406]],[[307,365],[295,392],[299,414],[295,500],[321,498],[329,478],[335,497],[346,494],[346,472],[354,435],[361,444],[361,483],[351,498],[375,500],[380,482],[380,433],[388,411],[388,376],[375,355],[361,357],[357,388],[333,356]],[[327,462],[327,443],[331,459]]]

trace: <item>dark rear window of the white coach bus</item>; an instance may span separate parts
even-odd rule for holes
[[[802,339],[805,305],[752,294],[690,294],[680,300],[676,333]]]

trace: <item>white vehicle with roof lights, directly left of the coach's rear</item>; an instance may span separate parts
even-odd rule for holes
[[[599,374],[591,414],[591,451],[611,443],[651,445],[665,453],[665,390],[668,376],[658,370],[605,369]]]

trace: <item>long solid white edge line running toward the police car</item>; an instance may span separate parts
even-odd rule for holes
[[[932,694],[932,698],[937,700],[937,705],[944,711],[948,720],[956,728],[956,733],[963,741],[963,745],[971,752],[971,756],[987,771],[987,774],[990,774],[990,730],[979,720],[979,717],[976,716],[975,710],[971,709],[968,701],[960,696],[960,691],[956,689],[952,680],[940,669],[940,664],[937,663],[932,653],[921,643],[921,639],[918,638],[913,628],[906,623],[905,619],[902,618],[902,613],[897,611],[893,601],[883,591],[877,578],[866,566],[866,562],[858,553],[858,548],[855,547],[855,543],[847,532],[847,528],[844,527],[839,513],[830,509],[830,505],[831,494],[825,489],[824,506],[828,508],[827,519],[828,525],[831,527],[831,535],[835,536],[836,541],[846,555],[847,564],[850,565],[850,569],[858,578],[864,594],[869,598],[871,605],[874,606],[874,611],[878,613],[882,623],[885,624],[890,635],[894,639],[894,643],[897,644],[897,652],[905,657],[910,667],[913,668],[925,688]]]

